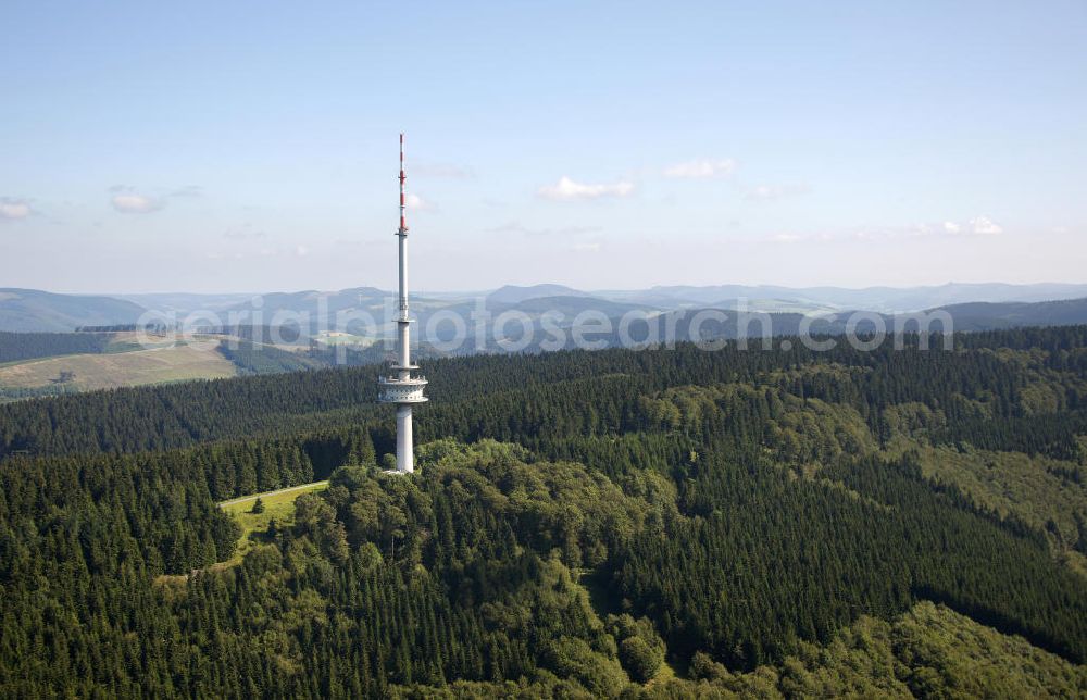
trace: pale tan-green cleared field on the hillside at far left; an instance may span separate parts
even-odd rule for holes
[[[237,375],[237,367],[214,347],[152,348],[108,354],[48,358],[0,367],[0,388],[32,389],[59,384],[62,372],[73,376],[63,384],[82,391],[186,379],[217,379]]]

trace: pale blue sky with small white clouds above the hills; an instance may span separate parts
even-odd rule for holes
[[[1083,0],[0,16],[0,287],[1087,282]]]

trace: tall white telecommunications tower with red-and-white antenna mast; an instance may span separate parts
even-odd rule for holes
[[[400,135],[400,228],[397,237],[400,242],[400,308],[397,316],[397,336],[399,340],[399,357],[397,364],[390,368],[396,376],[383,376],[377,379],[379,390],[378,401],[397,404],[397,472],[411,474],[415,471],[414,445],[412,442],[413,403],[424,403],[426,377],[412,377],[411,371],[418,370],[411,363],[411,318],[408,315],[408,221],[405,207],[404,175],[404,135]]]

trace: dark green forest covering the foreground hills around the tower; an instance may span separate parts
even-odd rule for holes
[[[0,405],[0,696],[1087,693],[1087,326],[915,341]]]

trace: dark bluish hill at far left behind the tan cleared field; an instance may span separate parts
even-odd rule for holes
[[[0,330],[65,332],[78,326],[129,324],[143,312],[142,307],[112,297],[0,289]]]

